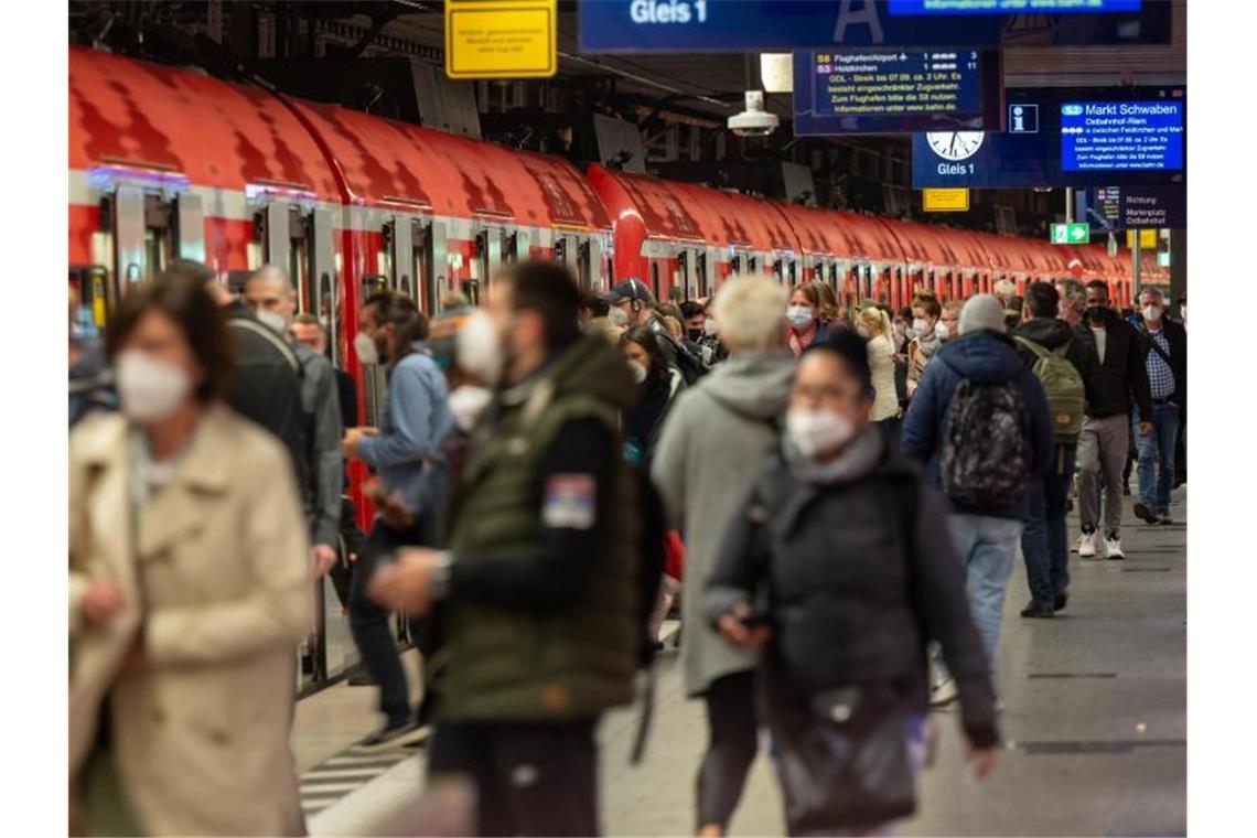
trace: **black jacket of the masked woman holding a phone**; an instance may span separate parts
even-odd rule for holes
[[[965,732],[989,746],[998,740],[991,670],[943,510],[915,464],[886,452],[880,436],[875,445],[871,470],[832,482],[802,476],[798,455],[771,454],[729,521],[705,614],[715,624],[735,603],[766,602],[768,662],[787,690],[895,683],[920,710],[925,646],[939,641]]]

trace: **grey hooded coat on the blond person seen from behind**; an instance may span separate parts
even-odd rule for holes
[[[710,628],[703,617],[703,588],[715,569],[725,524],[777,440],[793,374],[794,359],[784,353],[734,353],[680,395],[655,449],[651,477],[669,523],[685,538],[681,662],[690,696],[701,695],[715,678],[755,666],[754,656]]]

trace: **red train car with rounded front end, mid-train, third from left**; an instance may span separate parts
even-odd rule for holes
[[[612,220],[616,279],[656,299],[708,297],[730,273],[803,275],[798,237],[767,201],[597,165],[586,176]]]

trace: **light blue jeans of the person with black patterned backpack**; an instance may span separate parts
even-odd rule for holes
[[[1013,518],[950,514],[952,544],[964,564],[969,612],[982,636],[987,660],[994,671],[999,660],[999,624],[1004,614],[1004,588],[1013,572],[1013,553],[1022,523]]]

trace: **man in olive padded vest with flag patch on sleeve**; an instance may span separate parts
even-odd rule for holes
[[[480,834],[598,833],[598,717],[632,700],[637,499],[620,460],[631,374],[582,335],[562,266],[527,261],[490,286],[459,363],[494,383],[471,430],[450,549],[403,548],[371,594],[436,607],[442,646],[427,770],[476,786]]]

